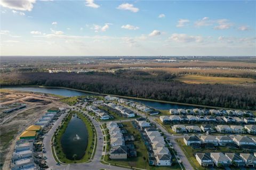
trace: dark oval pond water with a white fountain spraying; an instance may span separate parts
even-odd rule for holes
[[[72,116],[67,129],[62,135],[61,146],[66,157],[70,160],[82,159],[88,142],[88,132],[84,122],[77,117]]]

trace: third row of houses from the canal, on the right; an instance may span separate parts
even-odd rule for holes
[[[250,133],[250,134],[256,134],[256,125],[254,124],[248,124],[248,125],[217,125],[213,126],[210,124],[204,124],[200,127],[197,125],[182,125],[182,124],[175,124],[172,126],[172,130],[176,133],[186,133],[186,132],[194,132],[194,133],[200,133],[203,132],[219,132],[219,133]]]

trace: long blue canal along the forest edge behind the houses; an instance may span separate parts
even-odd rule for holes
[[[90,94],[90,93],[86,93],[86,92],[81,92],[81,91],[76,91],[76,90],[69,90],[69,89],[61,89],[61,88],[4,87],[3,89],[42,92],[42,93],[46,93],[46,94],[61,95],[61,96],[66,96],[66,97],[94,95],[94,94]],[[176,104],[162,103],[162,102],[157,102],[157,101],[147,101],[147,100],[140,100],[140,99],[129,99],[129,100],[144,104],[144,105],[149,106],[149,107],[153,107],[155,109],[161,109],[161,110],[169,110],[171,108],[176,108],[176,109],[177,108],[183,108],[183,109],[198,108],[198,107],[194,107],[194,106],[176,105]]]

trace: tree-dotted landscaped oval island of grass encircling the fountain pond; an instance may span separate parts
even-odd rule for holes
[[[67,126],[73,114],[76,114],[79,118],[81,118],[88,132],[87,148],[85,150],[85,155],[82,157],[82,159],[79,160],[70,160],[66,158],[61,146],[62,135],[63,133],[65,133],[65,130],[67,129]],[[71,111],[67,116],[63,118],[62,123],[59,125],[59,128],[54,133],[52,137],[52,143],[52,152],[56,162],[62,164],[86,163],[89,162],[95,154],[95,148],[97,148],[97,133],[95,132],[94,125],[86,116],[79,112]]]

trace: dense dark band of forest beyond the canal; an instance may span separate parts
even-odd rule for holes
[[[256,110],[255,86],[186,84],[173,81],[171,74],[156,77],[144,72],[2,74],[1,86],[14,85],[68,87],[113,95]]]

